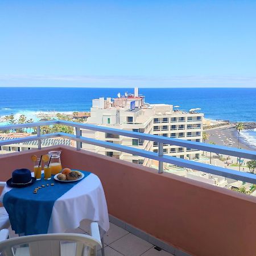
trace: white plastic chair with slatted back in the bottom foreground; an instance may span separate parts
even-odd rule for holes
[[[96,256],[97,246],[98,249],[102,247],[97,222],[90,224],[90,232],[92,236],[59,233],[3,240],[6,238],[6,229],[4,229],[0,232],[0,252],[5,256]],[[16,248],[16,246],[22,247]]]

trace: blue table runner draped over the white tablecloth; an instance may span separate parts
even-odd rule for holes
[[[84,178],[90,174],[90,172],[80,172],[84,174]],[[3,196],[3,206],[9,214],[11,228],[16,234],[24,233],[25,236],[46,234],[55,201],[83,180],[64,183],[56,181],[53,176],[51,180],[43,178],[42,174],[42,179],[35,181],[31,186],[13,188]],[[54,185],[52,186],[51,183]],[[37,187],[42,188],[35,194],[33,191]]]

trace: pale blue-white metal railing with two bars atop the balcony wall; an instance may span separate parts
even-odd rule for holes
[[[51,133],[51,134],[40,133],[40,126],[48,126],[48,125],[56,125],[56,124],[75,127],[76,134],[74,135],[74,134],[61,133],[61,132]],[[94,146],[111,148],[113,150],[126,152],[133,155],[139,155],[144,158],[158,160],[159,173],[163,172],[163,163],[165,162],[165,163],[175,164],[176,166],[181,166],[185,168],[191,168],[198,171],[207,172],[209,174],[220,175],[220,176],[228,177],[231,179],[241,180],[241,181],[256,184],[256,175],[254,174],[250,174],[247,172],[239,172],[236,170],[230,170],[230,169],[226,169],[218,166],[212,166],[210,164],[199,163],[192,160],[186,160],[181,158],[175,158],[174,156],[164,155],[163,144],[171,144],[171,145],[180,146],[180,147],[193,148],[195,150],[209,151],[217,154],[231,155],[231,156],[237,156],[238,158],[246,158],[246,159],[253,159],[253,160],[256,160],[255,151],[241,150],[238,148],[217,146],[217,145],[201,143],[201,142],[192,142],[192,141],[186,141],[184,139],[168,138],[168,137],[162,137],[158,135],[137,133],[134,131],[118,130],[118,129],[113,129],[109,127],[89,125],[85,123],[76,123],[76,122],[70,122],[70,121],[46,121],[46,122],[36,122],[36,123],[24,123],[24,124],[18,124],[18,125],[6,125],[6,126],[1,126],[0,130],[13,130],[13,129],[21,129],[21,128],[27,128],[27,127],[37,127],[37,135],[0,141],[0,146],[15,144],[15,143],[23,143],[28,141],[39,141],[38,148],[41,149],[40,142],[42,139],[64,137],[64,138],[68,138],[76,141],[77,150],[81,149],[80,142],[83,142],[83,143],[93,144]],[[123,146],[121,144],[114,144],[111,142],[99,141],[97,139],[82,137],[80,135],[81,129],[100,131],[102,133],[109,133],[109,134],[130,137],[130,138],[143,139],[146,141],[158,142],[159,150],[158,150],[158,153],[155,153],[151,151],[141,150],[135,147]]]

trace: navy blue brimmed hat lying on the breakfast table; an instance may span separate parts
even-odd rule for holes
[[[6,183],[14,188],[28,187],[36,181],[36,178],[31,176],[31,172],[28,169],[17,169],[13,171],[12,176]]]

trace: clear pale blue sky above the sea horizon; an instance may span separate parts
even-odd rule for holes
[[[0,86],[256,87],[256,1],[0,1]]]

